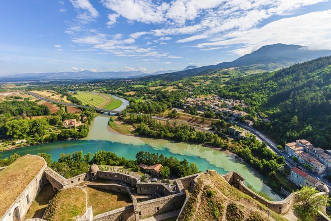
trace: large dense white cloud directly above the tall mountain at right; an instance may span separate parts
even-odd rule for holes
[[[331,10],[271,22],[261,28],[236,31],[218,40],[200,43],[198,47],[244,44],[232,52],[243,55],[263,45],[283,43],[307,46],[313,49],[331,49]]]

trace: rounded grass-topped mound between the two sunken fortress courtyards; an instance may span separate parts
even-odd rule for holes
[[[51,200],[44,219],[49,221],[73,220],[86,210],[85,192],[82,188],[60,190]]]

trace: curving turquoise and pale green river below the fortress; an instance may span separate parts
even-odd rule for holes
[[[88,137],[75,141],[60,141],[34,145],[12,151],[2,152],[2,158],[8,157],[13,153],[20,155],[37,154],[45,152],[52,155],[52,159],[59,158],[61,153],[72,153],[74,151],[83,151],[84,153],[95,153],[98,150],[111,151],[120,157],[135,159],[138,151],[148,151],[159,153],[164,156],[174,156],[179,160],[187,159],[195,163],[199,170],[214,169],[220,174],[229,171],[237,171],[242,174],[246,183],[253,186],[254,189],[267,193],[275,200],[281,200],[277,194],[262,182],[263,176],[257,173],[250,165],[242,162],[232,154],[204,147],[202,145],[176,143],[162,139],[150,139],[134,136],[121,135],[110,132],[107,129],[108,116],[98,116],[95,118]]]

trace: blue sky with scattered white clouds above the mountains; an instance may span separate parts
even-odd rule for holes
[[[331,0],[10,0],[0,75],[180,70],[263,45],[331,49]]]

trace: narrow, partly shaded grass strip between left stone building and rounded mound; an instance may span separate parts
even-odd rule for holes
[[[37,195],[36,199],[32,202],[29,211],[25,218],[42,218],[48,206],[49,201],[54,197],[51,184],[46,184]]]

